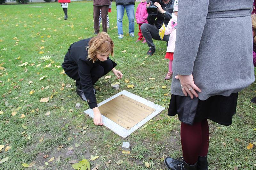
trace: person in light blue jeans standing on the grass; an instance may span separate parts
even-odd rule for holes
[[[116,11],[117,11],[117,31],[118,39],[124,38],[123,36],[123,17],[124,8],[129,20],[129,35],[134,36],[134,2],[135,0],[116,0]]]

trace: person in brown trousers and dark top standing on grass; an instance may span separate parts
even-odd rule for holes
[[[102,31],[108,32],[107,30],[108,5],[110,5],[110,0],[93,0],[93,21],[94,21],[95,35],[97,35],[100,32],[100,25],[99,25],[100,11],[101,11],[101,18],[102,18]]]

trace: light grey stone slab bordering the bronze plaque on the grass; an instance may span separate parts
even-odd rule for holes
[[[126,90],[123,90],[119,93],[117,93],[116,95],[104,100],[103,102],[100,102],[98,104],[98,106],[101,106],[104,103],[107,103],[108,101],[110,101],[111,99],[114,99],[115,97],[119,96],[119,95],[125,95],[127,97],[132,98],[133,100],[136,100],[140,103],[143,103],[153,109],[155,109],[156,111],[154,111],[152,114],[150,114],[148,117],[146,117],[145,119],[143,119],[142,121],[140,121],[138,124],[136,124],[135,126],[133,126],[131,129],[126,130],[125,128],[123,128],[122,126],[120,126],[119,124],[116,124],[115,122],[113,122],[112,120],[108,119],[107,117],[102,115],[102,121],[103,124],[109,128],[110,130],[112,130],[114,133],[116,133],[117,135],[126,138],[127,136],[129,136],[130,134],[132,134],[132,132],[136,131],[137,129],[139,129],[143,124],[147,123],[150,119],[152,119],[153,117],[155,117],[156,115],[158,115],[161,111],[163,111],[165,108],[162,106],[159,106],[149,100],[146,100],[140,96],[137,96],[135,94],[132,94]],[[84,111],[84,113],[86,113],[87,115],[89,115],[90,117],[93,118],[93,111],[92,109],[87,109]]]

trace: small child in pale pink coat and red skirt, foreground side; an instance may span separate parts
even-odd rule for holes
[[[169,35],[169,41],[168,46],[166,50],[165,57],[166,59],[169,59],[169,71],[167,72],[166,76],[164,77],[165,80],[169,80],[172,77],[172,60],[173,60],[173,53],[175,48],[175,40],[176,40],[176,28],[177,28],[177,17],[178,17],[178,0],[174,1],[173,4],[173,13],[172,13],[172,19],[169,21],[164,35]],[[162,29],[162,27],[160,28]]]

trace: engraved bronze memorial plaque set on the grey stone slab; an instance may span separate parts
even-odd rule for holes
[[[155,109],[125,95],[117,96],[102,104],[99,109],[103,116],[127,130],[155,111]]]

